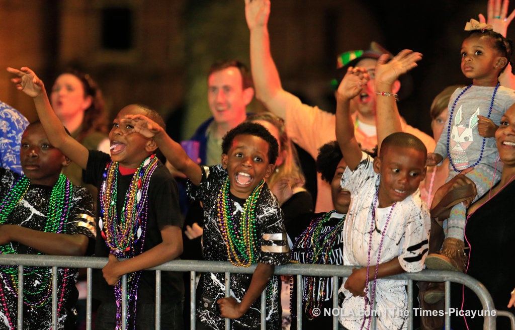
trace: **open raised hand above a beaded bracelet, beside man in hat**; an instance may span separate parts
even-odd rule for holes
[[[422,54],[417,51],[404,49],[388,61],[388,55],[383,54],[375,66],[375,82],[393,84],[399,77],[417,66]]]

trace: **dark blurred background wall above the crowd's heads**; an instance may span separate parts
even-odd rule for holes
[[[366,49],[372,40],[391,53],[420,51],[411,93],[399,107],[408,123],[430,133],[433,97],[468,82],[459,70],[463,27],[486,6],[487,0],[272,0],[272,56],[286,90],[333,111],[329,81],[339,53]],[[47,87],[64,67],[81,67],[99,82],[112,114],[145,103],[173,118],[177,138],[210,115],[209,65],[221,58],[249,63],[248,54],[243,0],[0,0],[2,66],[30,66]],[[33,117],[31,100],[8,79],[1,70],[0,99]],[[262,109],[252,103],[251,110]]]

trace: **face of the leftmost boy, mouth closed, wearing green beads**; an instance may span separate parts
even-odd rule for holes
[[[22,135],[20,162],[32,184],[53,186],[63,166],[70,162],[54,148],[41,124],[30,125]]]

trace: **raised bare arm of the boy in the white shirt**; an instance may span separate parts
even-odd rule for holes
[[[336,92],[336,140],[347,166],[354,170],[362,158],[362,151],[354,136],[354,124],[350,113],[350,100],[363,90],[370,79],[361,67],[349,67]]]

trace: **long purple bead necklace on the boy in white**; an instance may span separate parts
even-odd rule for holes
[[[367,329],[370,329],[370,321],[372,320],[372,308],[374,306],[374,298],[375,298],[375,282],[377,280],[377,268],[379,268],[379,261],[381,258],[381,250],[383,248],[383,241],[386,234],[386,229],[388,228],[388,223],[390,222],[391,214],[393,212],[393,209],[395,205],[397,205],[397,202],[394,202],[391,205],[390,212],[388,212],[388,216],[386,217],[385,225],[383,227],[382,233],[381,233],[381,241],[379,242],[379,248],[377,250],[377,262],[375,264],[375,273],[374,273],[374,284],[372,286],[372,292],[370,294],[370,304],[367,304],[367,297],[368,297],[368,283],[369,283],[369,274],[370,274],[370,255],[372,254],[372,234],[374,232],[375,227],[375,208],[377,207],[377,200],[379,195],[379,188],[375,190],[375,197],[374,197],[374,203],[372,205],[372,222],[370,223],[370,232],[369,232],[369,239],[368,239],[368,259],[367,259],[367,279],[365,282],[365,314],[367,309],[370,308],[370,316],[368,317],[368,323],[367,323]],[[367,317],[365,316],[363,318],[363,323],[361,324],[361,327],[365,325],[365,320]]]

